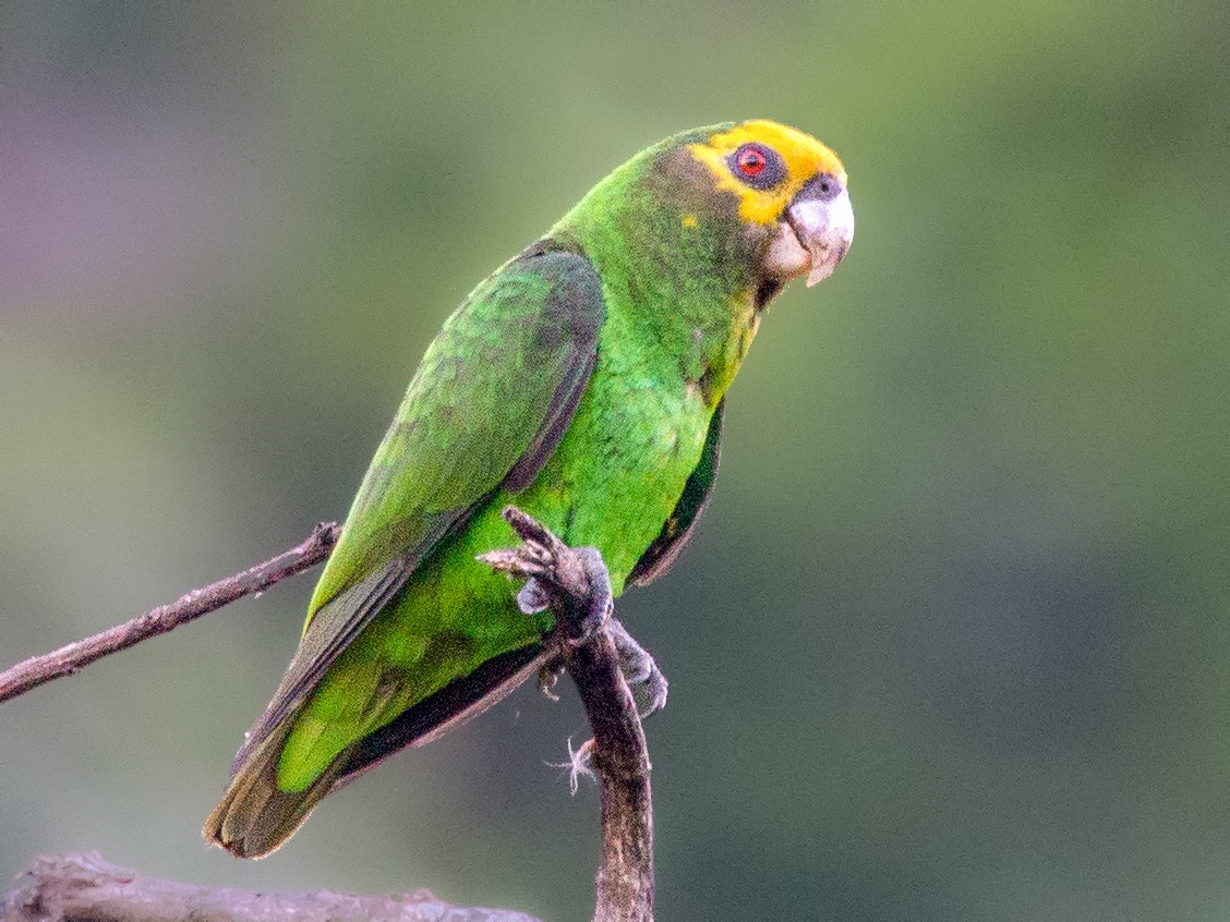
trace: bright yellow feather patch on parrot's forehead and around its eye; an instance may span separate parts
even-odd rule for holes
[[[736,178],[727,157],[749,141],[764,144],[781,155],[787,173],[784,182],[771,189],[755,189]],[[744,122],[688,148],[713,173],[717,188],[736,194],[739,216],[754,224],[776,221],[803,184],[817,173],[833,173],[843,184],[846,182],[845,167],[836,154],[809,134],[765,119]]]

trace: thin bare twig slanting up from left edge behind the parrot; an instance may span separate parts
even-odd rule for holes
[[[101,634],[70,643],[42,656],[31,656],[0,674],[0,702],[25,695],[53,679],[73,675],[109,653],[118,653],[150,637],[165,634],[245,595],[263,591],[278,580],[315,567],[328,557],[339,532],[336,522],[317,525],[299,547],[293,547],[272,561],[203,589],[194,589],[171,605],[162,605]]]

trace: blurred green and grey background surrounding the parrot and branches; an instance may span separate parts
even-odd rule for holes
[[[663,920],[1230,917],[1224,2],[0,6],[0,658],[344,515],[442,320],[675,130],[771,117],[859,231],[764,323],[621,613]],[[0,875],[588,918],[571,690],[269,859],[198,829],[312,578],[0,707]]]

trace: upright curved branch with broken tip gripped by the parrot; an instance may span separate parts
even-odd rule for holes
[[[577,684],[594,731],[592,757],[601,781],[603,819],[594,922],[653,922],[649,751],[615,643],[604,629],[611,610],[605,564],[594,548],[567,547],[517,506],[504,509],[504,520],[524,543],[480,559],[529,578],[518,596],[522,606],[549,607],[555,615],[560,659]],[[594,573],[594,561],[600,574]],[[594,584],[595,575],[601,586]],[[595,610],[603,612],[597,629],[592,623]]]

